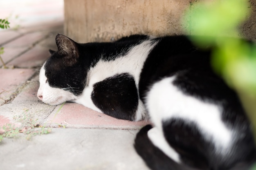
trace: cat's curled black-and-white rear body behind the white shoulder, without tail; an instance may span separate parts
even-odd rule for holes
[[[238,95],[212,70],[211,49],[198,49],[184,36],[159,38],[142,69],[139,92],[156,126],[148,137],[166,155],[173,153],[171,145],[181,155],[171,154],[173,160],[206,159],[218,169],[254,159],[249,120]]]

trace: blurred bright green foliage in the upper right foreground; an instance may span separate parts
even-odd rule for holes
[[[184,19],[187,33],[199,46],[215,46],[212,65],[227,83],[256,95],[256,49],[238,38],[238,26],[246,19],[246,0],[215,0],[191,4]],[[235,38],[236,37],[236,38]]]

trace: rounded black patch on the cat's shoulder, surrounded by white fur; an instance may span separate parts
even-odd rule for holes
[[[128,73],[95,83],[91,96],[95,106],[106,115],[117,119],[135,119],[139,97],[134,78]]]

